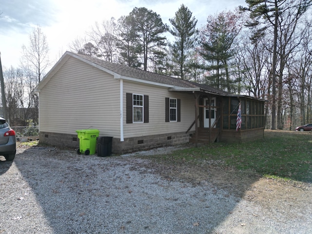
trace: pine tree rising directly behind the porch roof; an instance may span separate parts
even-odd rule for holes
[[[218,89],[232,91],[230,61],[234,57],[234,41],[241,30],[240,18],[229,11],[207,19],[206,28],[200,33],[200,53],[207,61],[207,83]]]

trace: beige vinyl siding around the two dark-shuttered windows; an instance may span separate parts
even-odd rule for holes
[[[149,123],[126,123],[126,93],[149,96]],[[165,98],[181,99],[181,121],[165,122]],[[193,94],[170,92],[160,87],[136,82],[123,82],[124,137],[141,137],[167,133],[186,132],[195,120]],[[192,130],[195,130],[193,127]]]

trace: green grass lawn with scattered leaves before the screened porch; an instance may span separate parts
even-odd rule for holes
[[[214,143],[153,157],[172,163],[221,160],[226,166],[260,176],[312,182],[312,133],[266,130],[261,140]]]

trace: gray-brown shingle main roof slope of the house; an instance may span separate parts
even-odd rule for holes
[[[71,52],[72,53],[72,52]],[[192,81],[188,81],[188,80],[183,80],[183,79],[179,79],[179,78],[173,78],[173,77],[168,77],[168,76],[164,76],[164,75],[160,75],[160,74],[156,74],[153,72],[147,72],[147,71],[143,71],[134,67],[128,67],[126,65],[121,65],[121,64],[117,64],[117,63],[113,63],[113,62],[108,62],[108,61],[104,61],[102,59],[96,59],[96,58],[92,58],[90,56],[86,56],[86,55],[80,55],[80,54],[76,54],[76,53],[72,53],[82,59],[86,59],[94,64],[97,64],[98,66],[101,66],[103,68],[106,68],[120,76],[124,76],[124,77],[129,77],[129,78],[137,78],[137,79],[142,79],[142,80],[146,80],[146,81],[153,81],[153,82],[157,82],[157,83],[161,83],[161,84],[167,84],[167,85],[172,85],[175,87],[182,87],[182,88],[200,88],[204,91],[207,92],[211,92],[211,93],[216,93],[216,94],[220,94],[220,95],[227,95],[229,93],[216,89],[214,87],[208,86],[208,85],[204,85],[204,84],[198,84]]]

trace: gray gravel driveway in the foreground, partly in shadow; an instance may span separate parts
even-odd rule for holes
[[[0,234],[312,233],[310,187],[296,190],[294,203],[263,204],[249,192],[264,180],[237,196],[209,180],[167,179],[137,154],[75,152],[38,147],[18,149],[14,162],[0,156]]]

